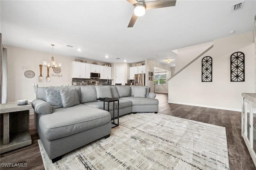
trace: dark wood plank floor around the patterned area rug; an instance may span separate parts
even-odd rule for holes
[[[156,95],[156,98],[159,100],[158,113],[226,127],[230,170],[256,169],[244,143],[244,140],[241,136],[240,112],[170,104],[167,103],[168,95],[163,93],[158,93]],[[32,144],[30,146],[25,146],[23,148],[1,154],[1,170],[44,169],[42,157],[38,147],[37,140],[39,139],[39,137],[36,132],[36,128],[34,127],[33,115],[30,115],[30,134],[32,137]],[[2,167],[2,163],[27,163],[28,167],[5,168]]]

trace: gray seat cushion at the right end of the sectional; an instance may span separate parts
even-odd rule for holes
[[[148,97],[122,97],[132,101],[132,105],[158,105],[158,99]]]

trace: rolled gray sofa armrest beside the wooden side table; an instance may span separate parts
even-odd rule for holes
[[[52,106],[44,100],[35,99],[31,102],[31,105],[38,114],[47,115],[52,113]]]

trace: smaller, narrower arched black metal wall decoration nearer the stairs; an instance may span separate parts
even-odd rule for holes
[[[212,57],[202,59],[202,82],[212,82]]]

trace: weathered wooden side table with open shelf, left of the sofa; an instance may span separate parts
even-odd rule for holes
[[[0,104],[1,142],[0,153],[32,144],[29,133],[29,114],[32,105],[18,106],[17,102]]]

